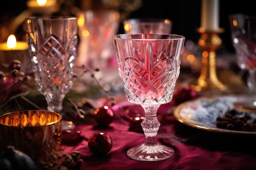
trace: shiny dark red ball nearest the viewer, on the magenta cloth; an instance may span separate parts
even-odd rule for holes
[[[95,132],[88,139],[88,147],[96,155],[106,155],[112,149],[112,138],[105,132]]]

